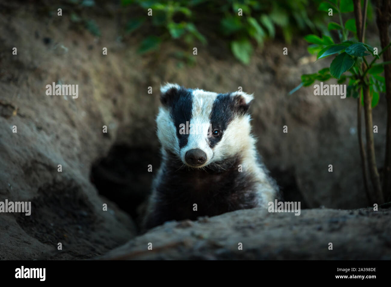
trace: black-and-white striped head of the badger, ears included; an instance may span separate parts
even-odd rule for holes
[[[160,91],[162,107],[156,122],[163,153],[203,168],[253,151],[248,114],[252,95],[218,94],[178,84],[166,84]]]

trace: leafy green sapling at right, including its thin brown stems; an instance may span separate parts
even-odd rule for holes
[[[322,2],[319,9],[322,11],[328,11],[329,13],[332,13],[333,9],[338,12],[341,23],[338,24],[336,22],[330,22],[328,24],[328,34],[330,34],[331,30],[337,30],[339,43],[335,43],[332,37],[327,34],[322,34],[321,37],[311,34],[305,36],[304,39],[308,41],[308,43],[312,44],[308,48],[308,51],[317,53],[317,60],[330,56],[333,56],[334,59],[329,68],[323,68],[317,73],[302,75],[300,85],[294,88],[289,94],[294,93],[300,89],[300,87],[311,86],[315,80],[327,81],[334,77],[338,80],[338,84],[343,84],[346,80],[348,80],[346,96],[352,96],[353,98],[358,99],[357,121],[365,190],[369,200],[374,200],[377,203],[383,203],[384,196],[375,159],[372,131],[372,108],[376,107],[378,104],[379,94],[387,92],[386,80],[385,77],[382,76],[382,73],[384,71],[384,66],[391,64],[391,61],[377,63],[377,60],[380,59],[380,55],[388,51],[391,46],[391,42],[385,45],[380,53],[377,52],[377,48],[373,48],[372,46],[364,43],[368,0],[364,1],[364,13],[361,13],[360,0],[330,0]],[[342,14],[352,11],[355,12],[355,18],[349,19],[344,23]],[[352,34],[352,37],[349,39],[348,36],[350,33]],[[366,58],[368,56],[373,57],[370,63],[368,63]],[[345,75],[346,72],[349,72],[350,74]],[[366,155],[361,139],[360,102],[361,105],[364,106],[365,115],[368,169],[372,182],[372,192],[370,194],[368,192],[367,184],[368,175],[366,173]],[[386,192],[386,190],[384,190],[384,192]]]

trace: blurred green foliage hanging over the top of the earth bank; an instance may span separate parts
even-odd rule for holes
[[[244,64],[250,62],[256,46],[262,46],[267,39],[277,34],[290,43],[292,35],[299,31],[316,31],[319,26],[316,21],[326,15],[317,11],[307,14],[307,11],[310,5],[315,3],[317,6],[320,2],[321,0],[121,0],[123,6],[131,5],[132,9],[145,11],[144,17],[129,19],[126,33],[132,33],[143,25],[152,25],[154,29],[151,34],[161,41],[175,39],[184,41],[189,46],[194,46],[197,42],[206,44],[208,37],[219,35],[230,46],[233,55]],[[147,16],[149,8],[152,9],[152,17]],[[203,33],[199,32],[205,26],[208,29],[203,29]],[[151,34],[145,37],[150,37]],[[145,43],[141,45],[145,46]],[[148,51],[151,50],[139,49],[140,53]]]

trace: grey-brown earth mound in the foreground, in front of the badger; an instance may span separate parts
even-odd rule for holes
[[[251,209],[170,221],[100,258],[390,260],[390,209],[307,209],[300,216]]]

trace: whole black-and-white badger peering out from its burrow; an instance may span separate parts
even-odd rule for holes
[[[160,91],[156,123],[161,165],[152,183],[144,229],[238,209],[267,209],[279,191],[251,134],[253,95],[178,84],[165,84]]]

